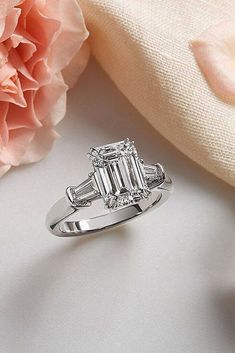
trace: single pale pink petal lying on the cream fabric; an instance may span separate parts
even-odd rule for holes
[[[235,103],[235,21],[223,21],[191,42],[197,63],[214,93]]]

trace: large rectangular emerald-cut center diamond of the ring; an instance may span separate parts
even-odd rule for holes
[[[126,139],[92,148],[89,156],[96,185],[108,208],[135,203],[150,194],[134,142]]]

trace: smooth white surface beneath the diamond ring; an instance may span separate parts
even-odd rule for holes
[[[233,353],[234,191],[160,137],[92,62],[62,138],[0,181],[1,353]],[[90,146],[135,139],[169,201],[99,235],[61,239],[47,209],[89,171]]]

